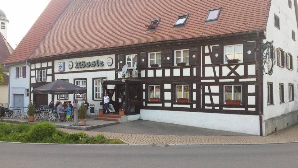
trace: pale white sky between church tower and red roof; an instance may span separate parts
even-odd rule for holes
[[[0,9],[9,20],[7,41],[13,49],[20,43],[27,31],[50,0],[0,0]]]

